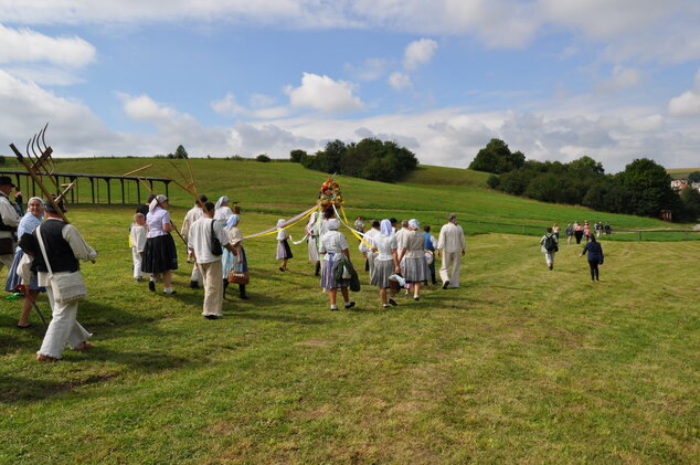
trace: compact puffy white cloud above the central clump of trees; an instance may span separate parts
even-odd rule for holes
[[[354,85],[347,81],[333,81],[328,76],[304,73],[299,87],[287,86],[285,93],[295,107],[312,108],[326,113],[347,113],[364,107],[353,95]]]

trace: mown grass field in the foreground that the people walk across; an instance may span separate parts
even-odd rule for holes
[[[88,352],[33,361],[41,328],[14,329],[19,303],[0,304],[0,462],[700,456],[698,242],[605,242],[591,283],[576,246],[549,272],[537,239],[481,234],[468,239],[459,289],[383,311],[365,286],[356,311],[330,313],[303,246],[283,274],[274,240],[250,240],[251,299],[230,296],[225,318],[208,321],[184,263],[172,298],[132,282],[130,212],[71,211],[99,251],[83,268]],[[245,214],[241,228],[275,219]]]

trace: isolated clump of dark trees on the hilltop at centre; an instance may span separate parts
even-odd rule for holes
[[[312,170],[382,182],[401,181],[418,166],[415,154],[407,148],[372,137],[357,144],[331,140],[314,155],[291,150],[289,158]]]

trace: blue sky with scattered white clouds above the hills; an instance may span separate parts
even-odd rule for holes
[[[697,0],[0,0],[0,154],[700,167]],[[2,148],[4,147],[4,148]]]

